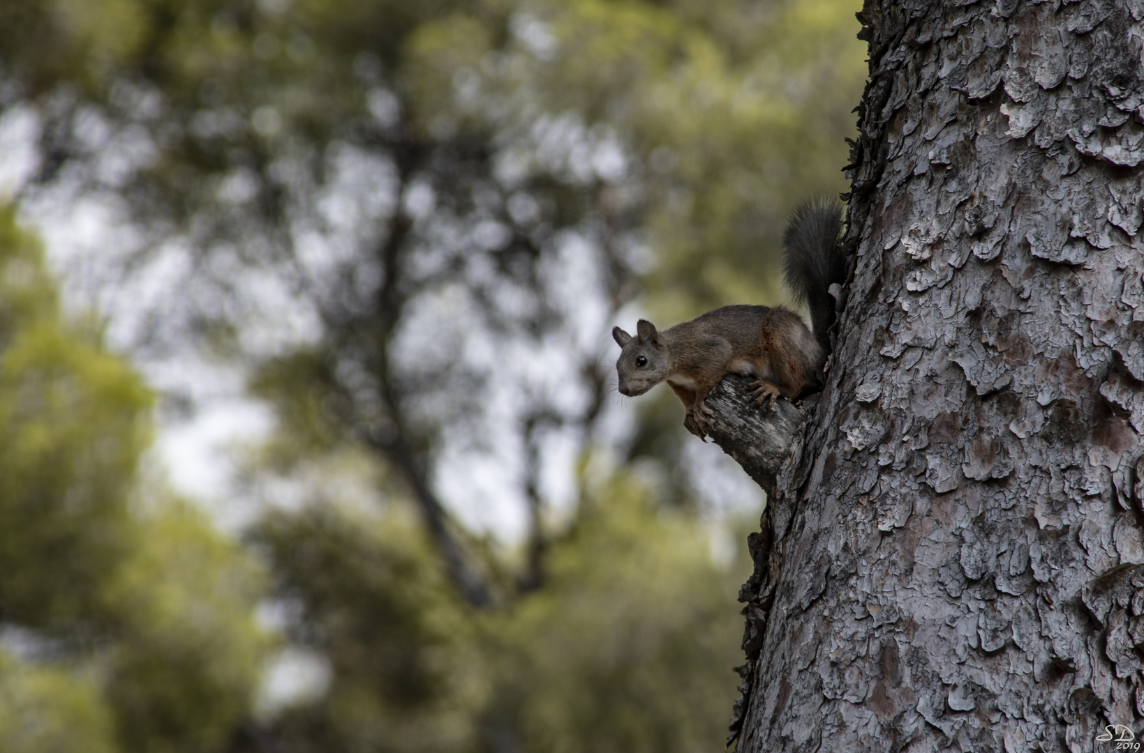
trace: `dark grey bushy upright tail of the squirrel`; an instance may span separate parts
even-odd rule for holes
[[[810,309],[810,322],[823,350],[831,352],[827,330],[834,323],[833,283],[847,281],[847,258],[839,247],[842,207],[828,199],[800,205],[782,232],[782,272],[799,303]]]

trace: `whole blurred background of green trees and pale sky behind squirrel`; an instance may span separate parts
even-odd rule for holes
[[[0,0],[0,750],[716,750],[750,522],[607,331],[782,301],[856,9]],[[202,362],[225,534],[146,460]]]

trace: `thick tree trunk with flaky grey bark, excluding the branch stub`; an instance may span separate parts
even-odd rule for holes
[[[1144,738],[1144,0],[859,19],[849,304],[750,540],[732,737],[1117,750]]]

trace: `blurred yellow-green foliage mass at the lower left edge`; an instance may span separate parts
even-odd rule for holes
[[[269,648],[264,576],[140,476],[151,393],[61,319],[0,211],[0,750],[223,750]]]

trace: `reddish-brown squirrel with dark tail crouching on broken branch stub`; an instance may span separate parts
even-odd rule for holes
[[[620,394],[641,395],[667,382],[686,408],[683,425],[700,439],[714,424],[704,399],[725,375],[756,377],[756,404],[794,400],[821,386],[831,352],[829,328],[841,310],[847,258],[839,246],[841,210],[832,201],[797,207],[782,233],[784,279],[797,303],[810,309],[813,331],[782,306],[731,305],[660,331],[645,319],[633,337],[619,327],[622,349],[615,370]],[[839,305],[836,305],[836,301]]]

